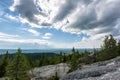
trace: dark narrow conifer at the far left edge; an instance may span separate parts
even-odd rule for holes
[[[9,54],[8,51],[3,55],[0,62],[0,77],[4,77],[6,73],[6,67],[9,63]]]

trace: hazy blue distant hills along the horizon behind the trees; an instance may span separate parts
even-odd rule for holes
[[[79,52],[84,52],[85,50],[92,52],[94,49],[86,48],[86,49],[76,49]],[[96,48],[96,50],[100,50],[100,48]],[[9,53],[16,53],[17,49],[0,49],[0,54],[4,54],[8,51]],[[71,53],[72,48],[69,49],[22,49],[23,53]]]

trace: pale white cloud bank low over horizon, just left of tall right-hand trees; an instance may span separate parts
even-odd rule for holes
[[[91,40],[86,38],[83,41],[80,42],[73,42],[73,43],[55,43],[53,42],[52,45],[55,48],[100,48],[102,45],[102,41],[101,40]]]

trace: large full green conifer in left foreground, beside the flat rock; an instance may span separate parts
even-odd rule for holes
[[[21,49],[18,49],[14,59],[7,66],[6,75],[15,80],[27,80],[28,62],[22,54]]]

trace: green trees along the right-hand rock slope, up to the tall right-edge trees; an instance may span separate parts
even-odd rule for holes
[[[101,50],[88,52],[85,50],[83,53],[77,55],[75,49],[72,49],[72,55],[69,55],[71,69],[70,71],[76,70],[81,64],[91,64],[98,61],[104,61],[120,56],[120,41],[114,39],[112,35],[106,36],[103,42]],[[77,56],[76,56],[77,55]],[[70,72],[69,71],[69,72]]]

